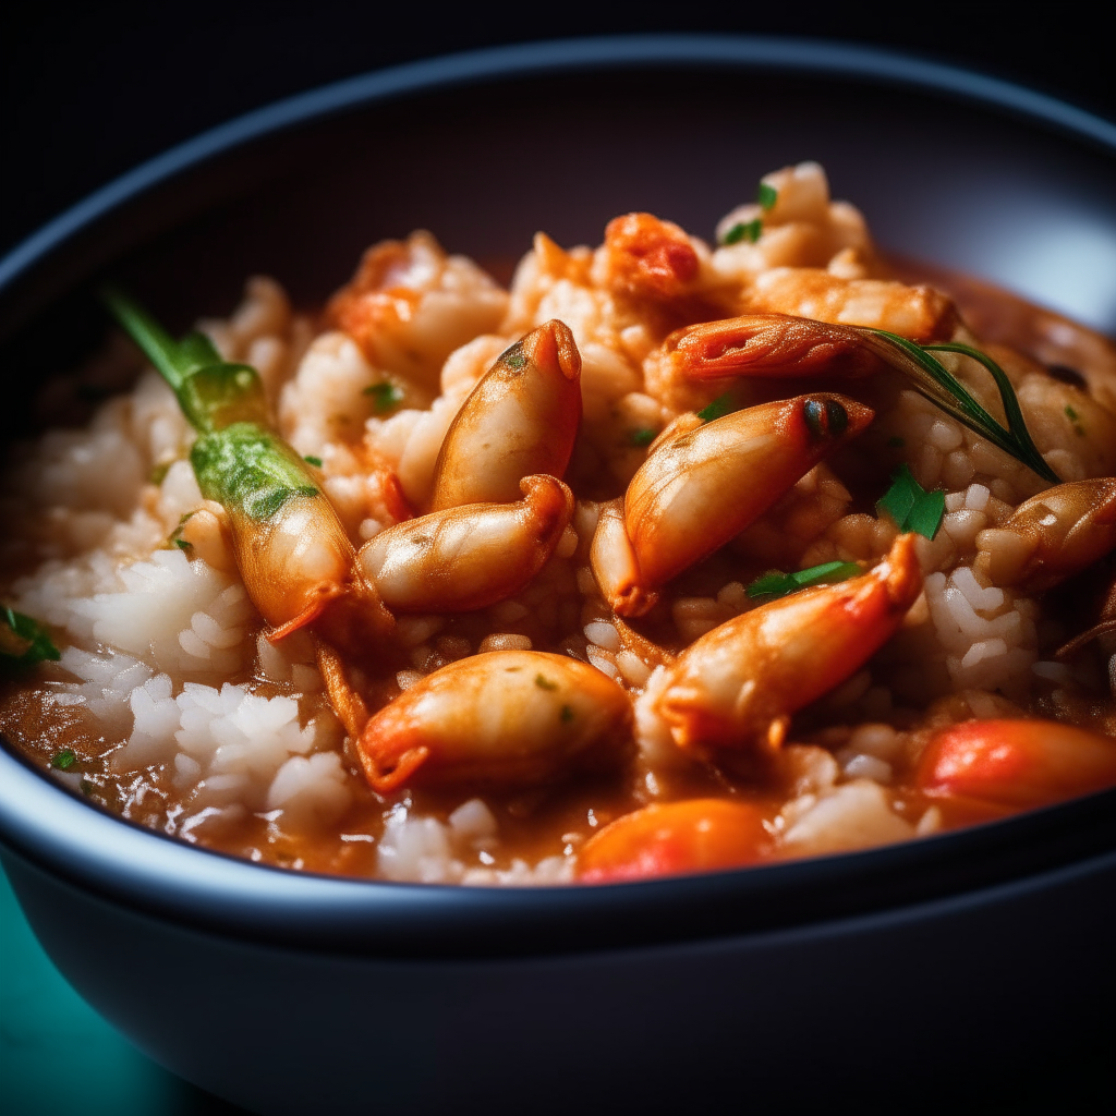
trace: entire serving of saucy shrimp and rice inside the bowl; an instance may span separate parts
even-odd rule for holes
[[[815,163],[509,289],[414,232],[314,312],[105,301],[0,542],[0,731],[100,808],[559,884],[1116,785],[1116,349],[884,257]]]

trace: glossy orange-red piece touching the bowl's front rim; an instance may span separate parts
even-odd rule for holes
[[[752,802],[655,802],[596,834],[578,856],[578,877],[605,884],[754,864],[771,846],[763,821]]]

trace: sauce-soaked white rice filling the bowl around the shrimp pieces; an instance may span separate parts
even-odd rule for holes
[[[721,316],[760,299],[825,318],[826,291],[839,288],[839,320],[912,328],[864,219],[830,201],[821,169],[801,164],[769,181],[775,205],[725,215],[719,246],[686,238],[695,297]],[[757,235],[730,235],[758,221]],[[280,432],[320,470],[356,546],[398,521],[398,492],[411,508],[425,506],[469,393],[509,345],[552,318],[568,325],[581,354],[584,421],[570,466],[577,507],[541,573],[465,622],[400,617],[410,666],[360,681],[386,699],[448,663],[501,650],[589,663],[635,704],[636,759],[620,789],[602,792],[608,807],[594,805],[591,790],[564,791],[561,809],[531,795],[499,802],[483,791],[373,795],[324,693],[311,639],[272,644],[261,634],[222,509],[202,499],[189,464],[194,434],[170,389],[124,348],[98,368],[107,359],[122,378],[137,374],[131,391],[102,404],[86,427],[19,448],[8,474],[2,510],[15,529],[0,542],[3,600],[49,625],[62,654],[40,668],[32,695],[9,702],[6,731],[15,737],[27,718],[37,725],[54,718],[84,763],[80,779],[59,778],[126,817],[257,860],[423,883],[570,882],[579,847],[609,816],[677,798],[698,778],[655,712],[664,670],[620,637],[588,550],[599,501],[623,493],[651,437],[724,384],[665,378],[658,347],[680,323],[623,295],[605,247],[565,250],[539,234],[507,290],[427,233],[371,250],[362,269],[385,291],[363,318],[343,292],[323,323],[296,312],[277,282],[256,278],[229,318],[200,323],[224,358],[259,369]],[[1116,417],[1094,404],[1075,429],[1066,412],[1080,404],[1066,383],[1007,349],[997,358],[1062,479],[1114,471]],[[1098,366],[1096,375],[1114,372]],[[970,386],[995,405],[988,383]],[[933,831],[937,808],[912,805],[902,790],[927,732],[1019,713],[1039,693],[1057,703],[1049,695],[1071,682],[1049,657],[1064,635],[1058,617],[975,562],[979,552],[994,558],[1010,548],[1002,528],[1038,491],[1035,474],[915,392],[876,394],[874,441],[863,452],[885,482],[905,463],[925,489],[942,489],[945,514],[933,540],[917,540],[925,588],[898,635],[809,710],[787,750],[793,770],[770,826],[779,855]],[[815,466],[722,552],[677,579],[663,620],[675,646],[754,607],[747,583],[764,569],[868,566],[887,554],[898,529],[854,496],[847,466]],[[41,739],[47,757],[62,735]],[[525,836],[531,817],[545,818],[545,839]]]

